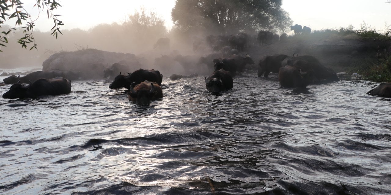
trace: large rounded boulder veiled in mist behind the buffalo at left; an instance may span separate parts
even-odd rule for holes
[[[95,49],[63,51],[53,54],[42,64],[42,70],[77,71],[85,79],[102,79],[103,70],[120,61],[134,61],[136,56],[130,53],[116,53]],[[142,67],[139,67],[142,68]]]

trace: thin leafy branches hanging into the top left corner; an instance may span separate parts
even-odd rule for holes
[[[34,7],[37,7],[38,11],[44,11],[45,8],[47,10],[47,16],[48,18],[52,18],[54,22],[54,26],[51,30],[53,30],[52,35],[58,36],[58,32],[60,34],[60,27],[64,25],[64,23],[60,20],[58,20],[57,16],[61,15],[55,15],[52,13],[54,9],[57,9],[58,6],[61,7],[59,3],[56,2],[56,0],[36,0],[36,4]],[[11,11],[12,10],[12,11]],[[22,26],[24,28],[23,34],[24,36],[18,39],[17,43],[22,45],[22,48],[27,49],[28,44],[34,44],[30,50],[33,48],[37,48],[37,44],[35,44],[34,36],[32,35],[32,32],[34,30],[34,22],[38,20],[38,17],[35,19],[32,19],[30,14],[24,9],[23,3],[20,0],[0,0],[0,29],[2,28],[2,24],[4,21],[9,20],[11,18],[16,18],[15,26]],[[16,28],[9,28],[6,31],[2,31],[0,33],[0,46],[6,47],[6,43],[8,43],[7,35],[16,30]],[[2,52],[2,50],[0,50]]]

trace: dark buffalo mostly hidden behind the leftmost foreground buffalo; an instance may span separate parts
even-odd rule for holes
[[[20,75],[19,76],[11,75],[11,76],[3,79],[3,81],[5,84],[13,84],[13,83],[18,82],[19,80],[22,83],[26,83],[27,81],[35,82],[36,80],[38,80],[40,78],[49,79],[49,78],[55,78],[57,76],[61,76],[61,77],[66,78],[66,75],[64,74],[63,71],[50,70],[50,71],[36,71],[36,72],[30,73],[30,74],[27,74],[26,76],[23,76],[23,77],[20,77]]]

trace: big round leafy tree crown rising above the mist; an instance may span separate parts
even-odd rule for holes
[[[283,32],[292,23],[282,0],[177,0],[171,16],[182,29],[204,28],[221,33]]]

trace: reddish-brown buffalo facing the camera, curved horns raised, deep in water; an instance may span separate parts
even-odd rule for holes
[[[147,80],[138,85],[133,82],[127,94],[129,101],[133,101],[133,103],[137,103],[139,106],[149,106],[151,100],[163,97],[163,92],[158,83]]]

